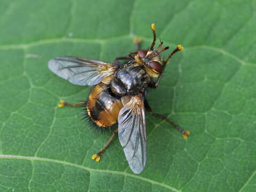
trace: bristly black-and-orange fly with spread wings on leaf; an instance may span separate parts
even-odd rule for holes
[[[94,154],[92,159],[100,161],[103,151],[118,133],[125,157],[134,173],[140,173],[146,164],[147,139],[145,109],[150,115],[162,118],[175,127],[187,139],[189,131],[181,129],[170,119],[155,114],[145,96],[147,89],[156,88],[161,81],[163,71],[174,53],[183,50],[181,45],[163,59],[161,49],[163,42],[154,49],[156,27],[151,25],[154,39],[147,50],[140,50],[140,39],[135,39],[137,51],[126,57],[114,59],[113,63],[79,57],[62,56],[49,61],[50,70],[56,75],[76,85],[94,85],[86,102],[67,103],[61,100],[59,107],[86,106],[87,115],[95,125],[105,129],[118,123],[106,145]],[[120,60],[127,62],[121,63]],[[154,81],[154,78],[157,78]]]

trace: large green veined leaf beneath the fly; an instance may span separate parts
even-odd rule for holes
[[[0,191],[255,191],[256,2],[0,2]],[[175,54],[147,98],[155,113],[189,130],[188,140],[147,115],[145,170],[130,170],[111,132],[81,121],[89,86],[51,73],[47,61],[74,55],[104,61],[158,38]],[[165,57],[171,51],[164,53]]]

